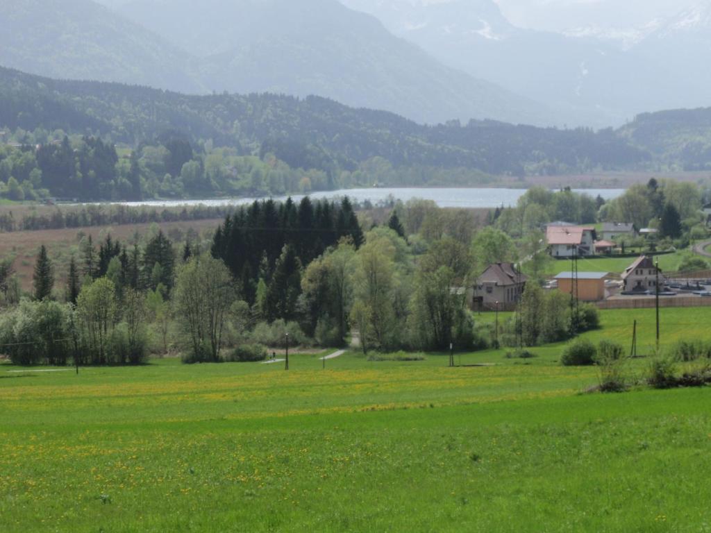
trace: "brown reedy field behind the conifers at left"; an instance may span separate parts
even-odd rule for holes
[[[218,218],[0,233],[0,258],[14,256],[13,266],[21,280],[22,288],[30,290],[35,258],[41,244],[45,244],[55,265],[55,288],[58,288],[66,279],[70,257],[74,255],[80,261],[79,242],[82,235],[91,235],[95,242],[105,239],[107,235],[111,235],[112,239],[127,241],[136,233],[146,235],[159,227],[172,239],[182,239],[188,230],[193,230],[198,235],[213,232],[221,222],[223,219]]]

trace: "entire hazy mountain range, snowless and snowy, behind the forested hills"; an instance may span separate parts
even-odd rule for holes
[[[620,126],[704,107],[711,0],[617,41],[495,0],[6,0],[0,65],[184,92],[319,95],[437,124]]]

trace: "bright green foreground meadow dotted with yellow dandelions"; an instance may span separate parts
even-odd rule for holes
[[[707,309],[664,312],[663,345],[711,338]],[[622,342],[634,318],[653,345],[649,310],[586,335]],[[586,394],[596,370],[560,349],[0,365],[0,531],[710,531],[711,390]]]

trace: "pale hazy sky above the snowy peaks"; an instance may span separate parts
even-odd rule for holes
[[[700,0],[497,0],[516,26],[560,31],[578,26],[624,28],[673,16]],[[711,1],[711,0],[706,0]]]

